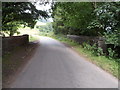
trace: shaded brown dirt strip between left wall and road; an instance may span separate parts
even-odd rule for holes
[[[2,59],[2,87],[9,88],[15,77],[20,73],[30,58],[33,57],[38,41],[26,46],[17,47]]]

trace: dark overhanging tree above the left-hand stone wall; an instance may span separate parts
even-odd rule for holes
[[[2,30],[10,32],[12,36],[19,24],[33,28],[36,20],[48,18],[46,11],[37,10],[31,2],[3,2],[2,3]]]

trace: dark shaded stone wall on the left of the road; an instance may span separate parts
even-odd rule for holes
[[[29,35],[2,37],[2,54],[13,50],[15,47],[28,44]]]

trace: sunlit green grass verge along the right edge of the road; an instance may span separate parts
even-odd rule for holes
[[[80,44],[78,44],[73,40],[65,38],[63,35],[50,35],[50,37],[70,45],[75,51],[77,51],[87,60],[91,61],[92,63],[101,67],[105,71],[111,73],[116,78],[120,79],[119,77],[120,75],[118,74],[118,69],[120,65],[118,61],[120,61],[120,59],[113,59],[113,58],[109,59],[107,56],[96,56],[95,54],[93,54],[92,51],[84,49]]]

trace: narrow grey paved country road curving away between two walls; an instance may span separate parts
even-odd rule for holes
[[[11,88],[118,88],[117,79],[59,41],[40,37],[39,43]]]

